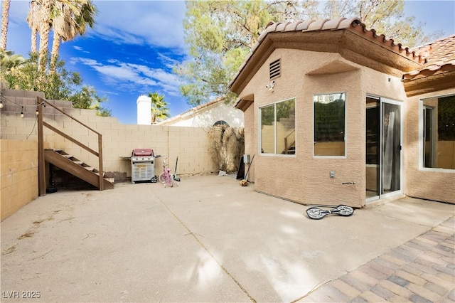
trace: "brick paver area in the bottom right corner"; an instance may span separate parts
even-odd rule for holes
[[[455,216],[301,302],[455,302]]]

